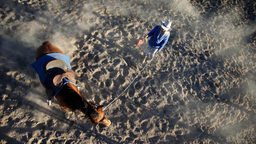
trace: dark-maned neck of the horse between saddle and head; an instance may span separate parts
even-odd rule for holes
[[[97,119],[99,117],[96,107],[85,100],[81,94],[78,94],[75,90],[69,87],[68,83],[65,84],[59,92],[62,94],[66,107],[82,111],[82,113],[89,116],[89,118],[95,116]]]

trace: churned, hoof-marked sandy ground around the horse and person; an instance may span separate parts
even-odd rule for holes
[[[0,143],[256,143],[254,0],[1,0],[0,17]],[[169,18],[163,50],[105,110],[111,126],[47,107],[31,66],[44,41],[106,106],[145,66],[137,39]]]

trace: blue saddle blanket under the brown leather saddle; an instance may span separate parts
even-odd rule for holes
[[[45,81],[47,81],[47,74],[46,74],[46,70],[45,70],[45,66],[47,65],[47,63],[49,63],[50,61],[53,60],[61,60],[64,61],[67,65],[67,67],[69,69],[71,69],[71,65],[70,65],[70,57],[67,55],[63,55],[60,53],[51,53],[51,54],[46,54],[43,55],[42,57],[40,57],[39,59],[37,59],[37,61],[35,61],[35,63],[32,64],[32,67],[35,69],[35,71],[37,72],[40,81],[43,83],[43,85],[45,85],[46,88],[51,89],[50,85],[47,85],[47,83]],[[63,85],[65,85],[66,83],[73,83],[72,81],[69,81],[68,79],[64,78],[63,79],[63,83],[61,85],[61,87],[59,87],[59,89],[54,90],[52,96],[56,96],[56,94],[58,94],[59,90],[61,90],[61,88],[63,87]],[[73,83],[74,85],[76,85],[76,83]],[[77,85],[76,85],[77,86]]]

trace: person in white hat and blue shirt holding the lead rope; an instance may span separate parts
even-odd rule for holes
[[[145,35],[145,38],[150,37],[150,39],[142,63],[145,62],[149,53],[151,53],[151,58],[153,58],[156,52],[160,52],[163,49],[163,46],[165,46],[169,39],[170,31],[173,30],[171,25],[171,20],[166,20],[165,22],[161,21],[161,26],[156,25],[147,35]]]

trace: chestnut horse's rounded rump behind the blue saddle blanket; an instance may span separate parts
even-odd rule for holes
[[[50,53],[61,53],[63,52],[57,47],[51,44],[51,42],[45,41],[39,48],[37,48],[37,51],[35,52],[35,59],[39,59],[41,56],[50,54]]]

